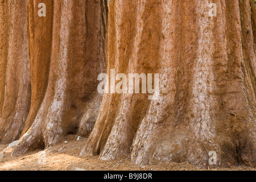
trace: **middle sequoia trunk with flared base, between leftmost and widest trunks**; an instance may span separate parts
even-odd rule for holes
[[[28,1],[32,102],[12,155],[47,148],[67,134],[89,135],[102,100],[97,76],[106,69],[106,1],[45,1],[46,16],[39,17],[41,2]]]

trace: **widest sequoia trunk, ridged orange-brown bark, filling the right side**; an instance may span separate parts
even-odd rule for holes
[[[159,100],[105,94],[81,155],[137,164],[256,164],[253,0],[112,0],[107,72],[159,73]]]

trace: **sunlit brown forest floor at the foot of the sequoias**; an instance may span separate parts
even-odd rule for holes
[[[28,152],[26,155],[12,157],[9,148],[0,156],[0,171],[180,171],[203,170],[187,163],[161,163],[157,166],[138,166],[129,157],[112,161],[99,160],[98,156],[79,156],[86,138],[77,140],[69,135],[60,144],[48,150]],[[8,145],[0,145],[0,155]],[[254,170],[256,168],[233,167],[214,170]]]

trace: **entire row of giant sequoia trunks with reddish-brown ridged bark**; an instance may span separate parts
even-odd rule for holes
[[[208,167],[213,151],[215,166],[256,166],[253,0],[3,0],[0,24],[0,143],[19,139],[13,155],[77,134],[81,155],[103,160]],[[113,69],[159,74],[158,98],[98,93]]]

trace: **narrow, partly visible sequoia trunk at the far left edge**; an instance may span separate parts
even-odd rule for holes
[[[0,2],[0,143],[18,139],[31,103],[27,1]]]

